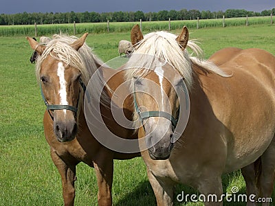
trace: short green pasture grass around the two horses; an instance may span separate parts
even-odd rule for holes
[[[179,30],[173,32],[178,34]],[[274,25],[191,29],[190,38],[201,42],[206,58],[224,47],[259,47],[275,54]],[[118,56],[121,39],[129,40],[129,32],[91,34],[87,44],[107,61]],[[61,179],[43,135],[45,106],[34,76],[34,65],[29,61],[32,50],[25,36],[0,37],[0,49],[0,205],[63,205]],[[94,170],[80,163],[77,176],[75,205],[96,205]],[[239,187],[239,193],[245,193],[239,171],[223,176],[223,190],[230,192],[233,186]],[[182,190],[197,194],[186,185],[179,185],[176,194]],[[141,158],[115,161],[113,205],[155,205]]]

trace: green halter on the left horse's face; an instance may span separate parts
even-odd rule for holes
[[[86,86],[84,84],[84,82],[80,79],[80,85],[81,87],[83,88],[83,91],[85,92],[86,91]],[[78,102],[79,102],[79,95],[78,95],[78,102],[77,102],[77,106],[71,106],[71,105],[62,105],[62,104],[48,104],[47,103],[47,100],[45,98],[45,95],[42,91],[42,86],[40,84],[40,89],[41,89],[41,96],[43,98],[43,101],[45,103],[45,105],[47,106],[47,111],[50,113],[50,111],[54,111],[54,110],[63,110],[63,109],[66,109],[66,110],[69,110],[69,111],[73,111],[74,113],[77,113],[78,112]],[[50,113],[50,116],[52,117],[52,114]],[[52,119],[54,119],[54,117],[52,117]]]

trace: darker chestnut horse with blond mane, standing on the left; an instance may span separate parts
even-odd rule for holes
[[[83,109],[85,88],[102,62],[85,44],[86,37],[87,34],[78,39],[56,35],[47,45],[40,45],[29,37],[28,41],[30,47],[39,54],[36,76],[47,105],[43,121],[44,133],[50,145],[52,160],[61,174],[65,205],[74,205],[76,165],[80,161],[96,170],[98,205],[111,205],[113,159],[130,159],[140,154],[123,154],[109,150],[94,138],[87,126]],[[108,68],[104,71],[114,72]],[[115,90],[124,80],[122,74],[116,75],[114,79],[110,80],[109,89]],[[98,80],[95,83],[98,84],[94,87],[95,90],[104,87],[100,82],[102,83]],[[104,87],[105,95],[111,95],[107,90]],[[108,100],[106,97],[105,99]],[[104,122],[118,136],[137,138],[134,130],[122,128],[115,123],[106,104],[100,106],[100,111]],[[129,119],[132,112],[128,112]]]

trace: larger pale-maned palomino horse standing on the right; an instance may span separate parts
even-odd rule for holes
[[[135,118],[144,123],[138,136],[145,137],[140,145],[148,149],[142,157],[157,205],[173,205],[175,183],[195,187],[205,205],[222,205],[221,175],[240,168],[248,194],[259,189],[259,196],[270,197],[275,171],[274,56],[261,49],[228,48],[202,60],[188,54],[187,47],[197,54],[200,50],[188,36],[186,27],[179,36],[153,32],[143,37],[138,25],[131,31],[135,50],[126,80],[135,96]],[[184,91],[185,84],[190,115],[178,134],[185,108],[179,107],[175,91]]]

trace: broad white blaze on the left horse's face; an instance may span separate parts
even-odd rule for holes
[[[63,66],[62,62],[58,63],[57,68],[57,76],[59,77],[59,83],[60,83],[60,91],[59,95],[61,98],[61,105],[67,105],[67,91],[66,91],[66,80],[65,80],[65,67]],[[66,110],[63,109],[64,113],[66,114]]]

